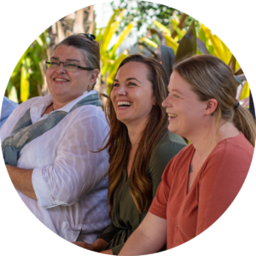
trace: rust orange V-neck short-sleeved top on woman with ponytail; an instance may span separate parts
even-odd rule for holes
[[[166,166],[149,212],[167,220],[167,250],[200,236],[231,207],[247,180],[255,148],[242,133],[212,150],[189,189],[193,144]]]

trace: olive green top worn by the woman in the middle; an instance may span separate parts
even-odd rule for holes
[[[153,184],[153,198],[167,164],[186,145],[182,137],[170,131],[166,131],[165,135],[154,145],[146,171]],[[125,241],[141,224],[147,212],[148,209],[140,214],[137,210],[130,193],[130,176],[127,179],[125,167],[121,180],[113,192],[112,223],[98,237],[109,242],[104,250],[112,249],[113,256],[117,256]],[[160,252],[165,251],[166,246],[160,250]]]

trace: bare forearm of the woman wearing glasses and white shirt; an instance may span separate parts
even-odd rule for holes
[[[15,189],[18,189],[22,194],[38,200],[37,195],[32,186],[33,169],[26,170],[16,166],[5,165],[5,169],[9,176],[9,180]]]

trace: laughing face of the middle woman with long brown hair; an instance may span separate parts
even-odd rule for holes
[[[131,129],[134,127],[137,131],[143,131],[155,105],[153,85],[148,80],[148,67],[136,61],[120,67],[113,80],[110,97],[116,118]]]

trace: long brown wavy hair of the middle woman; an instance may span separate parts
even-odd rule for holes
[[[142,132],[138,143],[137,152],[131,166],[130,186],[131,196],[140,213],[147,211],[152,201],[152,183],[146,175],[146,168],[154,144],[167,131],[168,117],[166,109],[162,107],[162,102],[167,95],[167,85],[169,78],[165,68],[159,61],[143,55],[130,55],[119,65],[123,67],[130,61],[144,63],[148,67],[148,80],[152,83],[155,105],[153,106],[148,119],[148,124]],[[118,68],[118,70],[119,70]],[[111,87],[110,93],[113,90]],[[128,164],[129,153],[131,150],[131,141],[128,136],[127,127],[116,118],[113,103],[108,96],[105,113],[108,119],[110,131],[108,134],[108,143],[101,150],[108,148],[109,169],[108,169],[108,204],[110,207],[109,215],[113,209],[113,192],[117,187],[123,169]],[[106,138],[107,139],[107,138]]]

